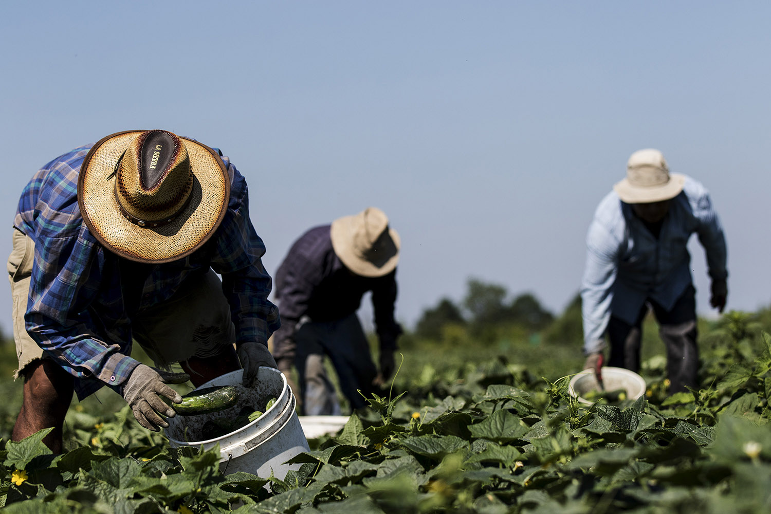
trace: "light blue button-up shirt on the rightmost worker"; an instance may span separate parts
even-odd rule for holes
[[[586,237],[581,281],[584,353],[604,348],[611,314],[633,324],[648,299],[667,310],[674,306],[692,284],[687,245],[693,233],[704,247],[709,276],[726,278],[726,238],[709,192],[698,181],[685,177],[658,239],[614,191],[604,197]]]

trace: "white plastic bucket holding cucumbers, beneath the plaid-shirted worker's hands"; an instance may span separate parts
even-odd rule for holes
[[[174,447],[199,448],[203,445],[205,449],[210,449],[219,444],[220,469],[227,475],[243,471],[265,479],[273,472],[276,478],[284,479],[290,469],[300,467],[284,462],[310,449],[295,412],[295,395],[292,395],[286,378],[277,369],[259,368],[254,388],[244,388],[241,385],[242,376],[243,370],[232,371],[196,388],[232,385],[239,393],[236,405],[207,414],[169,418],[166,435]],[[261,410],[270,398],[276,398],[276,401],[260,418],[229,434],[204,438],[203,429],[207,421],[234,420],[244,407]]]

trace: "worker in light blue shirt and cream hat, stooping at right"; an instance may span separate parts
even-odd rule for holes
[[[627,176],[594,213],[581,285],[584,368],[600,372],[607,331],[608,365],[638,371],[643,317],[651,307],[667,351],[670,391],[696,386],[695,289],[686,244],[705,249],[712,307],[726,307],[726,240],[709,193],[689,176],[669,173],[662,153],[642,149]]]

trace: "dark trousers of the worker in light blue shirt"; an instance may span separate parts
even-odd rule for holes
[[[658,321],[658,334],[666,347],[667,378],[671,381],[669,391],[686,391],[685,386],[695,388],[699,371],[695,293],[693,286],[689,286],[670,311],[665,311],[655,301],[648,301],[640,310],[635,324],[611,316],[608,322],[608,338],[611,343],[608,365],[635,372],[640,369],[642,320],[650,306]]]

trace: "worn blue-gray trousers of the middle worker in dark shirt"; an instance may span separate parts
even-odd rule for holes
[[[332,361],[342,393],[351,408],[367,405],[362,394],[369,398],[375,391],[372,381],[378,371],[355,313],[335,321],[301,321],[295,332],[295,343],[302,414],[340,414],[335,386],[329,381],[324,367],[325,356]]]

